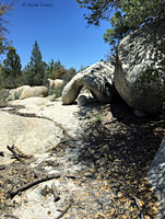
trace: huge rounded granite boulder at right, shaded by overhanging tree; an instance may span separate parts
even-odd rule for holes
[[[165,22],[148,24],[118,45],[115,88],[134,110],[156,113],[165,99]]]

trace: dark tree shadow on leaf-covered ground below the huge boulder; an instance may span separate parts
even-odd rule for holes
[[[97,110],[97,114],[93,110]],[[103,123],[108,112],[113,117]],[[81,149],[79,161],[92,162],[95,178],[109,181],[116,205],[123,207],[127,201],[130,203],[129,218],[135,218],[135,197],[141,214],[146,218],[155,218],[156,196],[146,175],[165,132],[165,120],[137,117],[123,102],[80,107],[78,116],[90,118],[82,134],[89,143]],[[122,207],[118,216],[123,215]]]

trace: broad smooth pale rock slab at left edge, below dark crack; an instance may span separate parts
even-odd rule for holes
[[[7,146],[14,145],[23,153],[44,153],[56,147],[62,137],[61,128],[44,118],[23,117],[0,111],[0,164],[11,162]]]

